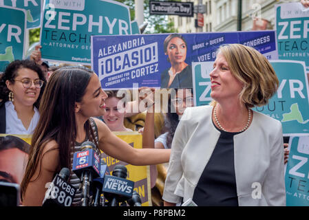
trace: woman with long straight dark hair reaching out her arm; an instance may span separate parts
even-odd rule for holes
[[[86,140],[97,150],[132,165],[161,164],[169,161],[170,150],[136,149],[112,133],[107,125],[92,116],[105,114],[107,94],[98,76],[81,66],[62,67],[50,77],[40,105],[41,117],[32,135],[32,148],[21,183],[23,206],[41,206],[47,182],[67,167]],[[70,183],[79,186],[71,173]],[[74,183],[73,183],[74,181]],[[81,204],[81,193],[73,205]]]

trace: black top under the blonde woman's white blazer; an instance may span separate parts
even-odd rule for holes
[[[233,137],[239,132],[219,131],[219,140],[194,190],[193,201],[198,206],[238,206]]]

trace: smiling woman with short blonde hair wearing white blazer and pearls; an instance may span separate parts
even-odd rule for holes
[[[253,111],[279,80],[252,47],[219,48],[208,106],[189,107],[175,131],[164,186],[165,206],[286,206],[282,126]]]

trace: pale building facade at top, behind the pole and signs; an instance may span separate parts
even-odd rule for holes
[[[202,4],[206,8],[202,28],[195,28],[197,14],[192,18],[169,16],[169,19],[179,33],[237,31],[239,1],[242,1],[241,30],[248,31],[273,30],[275,4],[299,0],[194,0],[194,5]]]

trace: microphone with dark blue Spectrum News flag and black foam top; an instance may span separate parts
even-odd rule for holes
[[[134,181],[127,178],[127,168],[121,164],[115,166],[112,175],[105,175],[102,191],[110,202],[110,206],[118,206],[119,202],[132,197]]]

